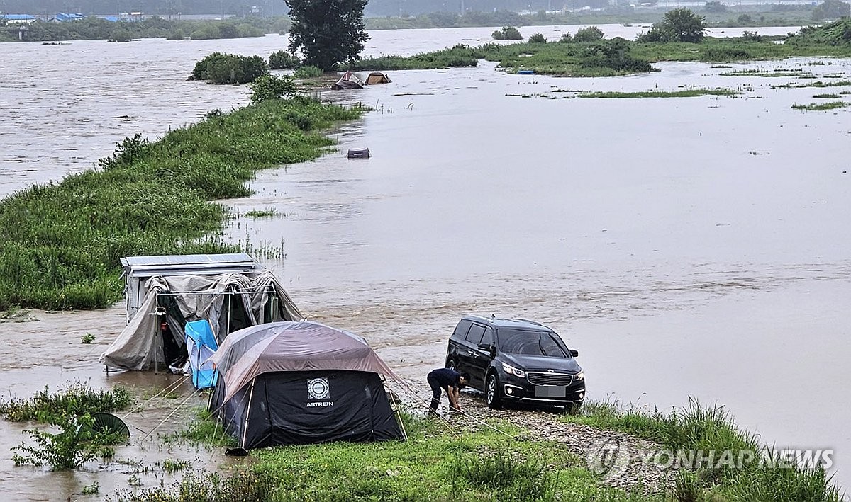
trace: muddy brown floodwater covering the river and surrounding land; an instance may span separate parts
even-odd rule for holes
[[[576,28],[523,33],[557,38]],[[608,36],[631,37],[628,30],[641,28],[604,27]],[[368,52],[485,42],[490,31],[374,32]],[[207,110],[243,104],[245,87],[186,82],[191,65],[215,50],[268,55],[283,42],[4,44],[0,193],[83,170],[133,133],[153,138]],[[811,62],[732,70],[851,76],[848,61]],[[263,172],[254,196],[226,201],[239,215],[278,212],[235,218],[228,238],[282,250],[283,259],[266,265],[301,310],[365,336],[405,377],[419,380],[443,365],[448,334],[464,313],[537,319],[580,351],[591,398],[661,409],[689,397],[722,403],[768,443],[834,449],[837,480],[848,486],[851,433],[841,417],[851,403],[842,386],[851,377],[844,361],[851,112],[792,110],[824,89],[773,87],[814,79],[657,66],[643,76],[574,79],[509,76],[483,63],[391,72],[385,86],[324,93],[376,111],[332,133],[339,152]],[[682,86],[741,93],[579,99],[554,92]],[[344,155],[366,147],[369,160]],[[28,396],[80,379],[152,395],[180,378],[105,375],[97,357],[122,327],[121,306],[3,322],[0,392]],[[96,336],[91,345],[80,343],[87,332]],[[170,402],[129,415],[134,437],[177,403],[186,401],[186,415],[202,405],[190,389],[177,383]],[[118,458],[147,465],[181,458],[195,469],[220,463],[208,448],[153,440],[178,426],[166,420]],[[77,499],[93,481],[111,494],[137,476],[126,466],[70,474],[14,467],[8,448],[25,438],[24,428],[0,422],[7,498]],[[151,486],[165,476],[137,478]]]

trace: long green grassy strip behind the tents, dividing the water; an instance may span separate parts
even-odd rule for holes
[[[249,195],[260,169],[322,155],[332,141],[317,131],[357,116],[305,98],[212,113],[0,201],[0,308],[106,307],[121,296],[120,257],[236,251],[216,237],[228,213],[210,200]]]

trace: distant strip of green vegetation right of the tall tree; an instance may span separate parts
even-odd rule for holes
[[[810,56],[851,57],[851,19],[802,28],[797,34],[782,37],[763,37],[745,31],[741,37],[717,38],[705,36],[702,16],[677,8],[635,41],[620,37],[603,39],[603,32],[591,26],[576,36],[565,35],[557,41],[534,34],[526,42],[488,42],[478,47],[457,45],[409,57],[357,59],[346,68],[425,70],[476,66],[480,59],[486,59],[499,63],[509,73],[615,76],[654,71],[652,64],[660,61],[731,62]]]

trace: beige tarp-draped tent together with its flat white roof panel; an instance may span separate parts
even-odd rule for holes
[[[182,368],[190,321],[208,320],[221,344],[232,331],[303,317],[275,276],[254,268],[248,255],[134,257],[123,264],[129,323],[100,356],[111,368]]]

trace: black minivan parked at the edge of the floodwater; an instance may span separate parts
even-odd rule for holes
[[[585,400],[578,355],[544,324],[466,315],[449,338],[446,367],[468,373],[490,408],[516,401],[575,412]]]

